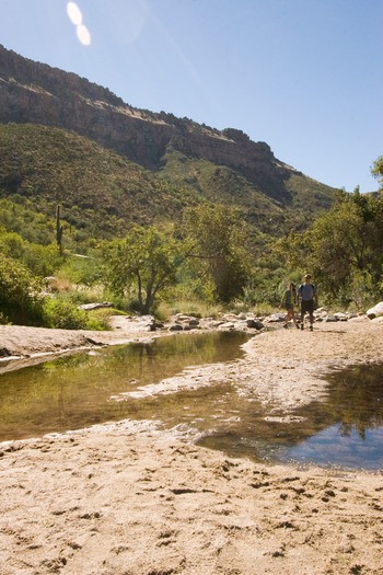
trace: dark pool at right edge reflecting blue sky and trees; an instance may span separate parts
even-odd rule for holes
[[[327,400],[297,410],[289,423],[265,421],[260,410],[201,442],[256,461],[383,469],[383,365],[351,367],[327,379]]]

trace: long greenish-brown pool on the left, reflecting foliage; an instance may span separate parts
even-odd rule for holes
[[[0,375],[0,440],[127,417],[152,418],[144,404],[108,400],[181,373],[187,366],[241,357],[240,346],[247,340],[243,333],[174,335],[4,372]]]

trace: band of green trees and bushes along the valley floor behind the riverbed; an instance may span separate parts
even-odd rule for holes
[[[382,185],[383,157],[372,173]],[[77,306],[100,298],[105,288],[102,297],[112,291],[123,297],[114,299],[116,307],[140,313],[155,313],[160,298],[174,309],[192,300],[275,306],[281,286],[309,271],[324,303],[368,309],[383,296],[383,189],[338,191],[326,212],[304,225],[291,221],[294,231],[279,240],[260,229],[255,233],[254,225],[247,228],[248,211],[233,207],[234,200],[195,203],[183,209],[182,221],[174,219],[177,227],[161,215],[162,227],[135,225],[124,238],[115,228],[118,238],[103,244],[71,211],[62,257],[55,210],[47,218],[34,202],[21,195],[0,199],[0,322],[77,326],[85,321]],[[126,221],[120,223],[126,230]],[[51,275],[58,287],[46,294],[42,279]],[[51,301],[60,296],[58,308]]]

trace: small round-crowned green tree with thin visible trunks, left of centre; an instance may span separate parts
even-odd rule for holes
[[[140,313],[149,313],[160,292],[176,281],[183,245],[172,232],[136,226],[124,240],[104,244],[106,283],[125,296],[135,289]]]

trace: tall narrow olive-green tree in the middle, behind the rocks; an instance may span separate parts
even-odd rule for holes
[[[188,256],[212,281],[216,298],[228,303],[242,296],[248,279],[248,258],[239,210],[201,205],[185,210],[185,223],[192,244]]]

